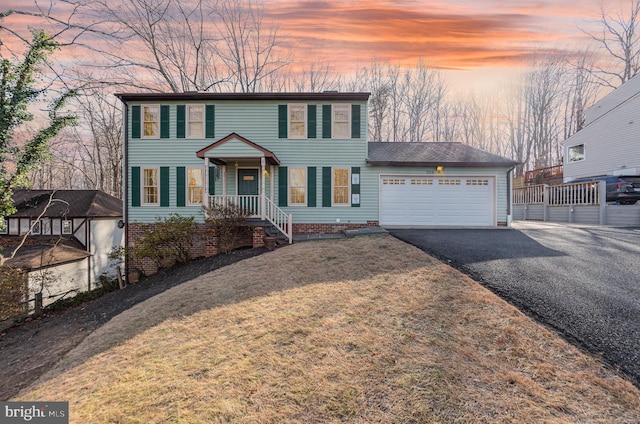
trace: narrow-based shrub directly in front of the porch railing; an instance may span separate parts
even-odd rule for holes
[[[205,207],[204,211],[205,222],[212,225],[218,234],[218,250],[220,253],[231,252],[246,231],[251,212],[235,203]]]

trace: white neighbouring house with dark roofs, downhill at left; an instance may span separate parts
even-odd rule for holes
[[[9,265],[29,273],[30,292],[43,292],[43,306],[96,288],[101,275],[116,277],[108,258],[122,246],[122,201],[98,190],[15,190],[17,212],[0,234]],[[44,287],[42,287],[42,284]]]

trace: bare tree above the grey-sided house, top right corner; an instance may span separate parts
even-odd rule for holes
[[[616,88],[633,77],[640,69],[640,0],[630,0],[629,12],[607,14],[604,5],[600,9],[601,31],[597,34],[584,31],[605,51],[605,63],[594,69],[601,85]],[[613,65],[611,66],[611,62]]]

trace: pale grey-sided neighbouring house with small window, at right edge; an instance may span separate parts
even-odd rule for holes
[[[640,173],[640,75],[585,113],[584,127],[564,141],[564,181]]]

